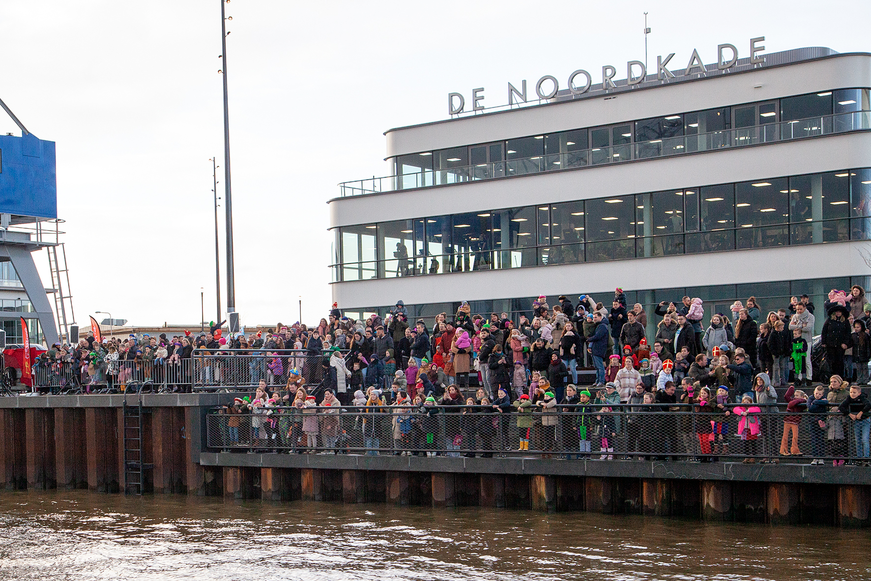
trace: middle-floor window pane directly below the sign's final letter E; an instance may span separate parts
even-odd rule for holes
[[[735,184],[736,242],[739,249],[788,243],[787,228],[775,226],[789,220],[788,194],[787,178]]]

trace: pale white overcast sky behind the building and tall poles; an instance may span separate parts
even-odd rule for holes
[[[57,142],[57,209],[79,323],[215,316],[212,163],[223,166],[219,0],[0,3],[0,98]],[[868,51],[863,2],[278,2],[226,4],[236,306],[243,325],[325,316],[326,201],[387,174],[390,127],[444,119],[448,92],[593,73],[717,44],[741,58],[801,46]],[[600,76],[600,75],[599,75]],[[568,127],[567,127],[568,128]],[[0,132],[17,127],[0,113]],[[509,137],[506,135],[506,137]],[[223,191],[222,169],[219,191]],[[223,212],[223,207],[219,208]],[[221,215],[223,258],[223,214]],[[44,253],[35,255],[47,277]],[[221,265],[222,297],[226,299]],[[403,297],[414,302],[414,297]],[[461,299],[462,297],[456,297]],[[385,297],[391,304],[395,297]],[[101,317],[98,317],[101,318]]]

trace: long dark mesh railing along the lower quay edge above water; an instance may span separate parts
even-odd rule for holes
[[[524,414],[481,406],[257,407],[245,413],[219,407],[207,416],[206,445],[223,451],[308,454],[835,464],[871,460],[871,420],[850,420],[837,412],[794,414],[800,417],[796,446],[801,454],[789,454],[787,446],[787,455],[781,455],[784,420],[793,415],[785,407],[745,416],[744,426],[748,417],[759,422],[758,433],[751,428],[746,434],[738,432],[742,418],[733,413],[703,414],[688,405],[639,407],[558,406]]]

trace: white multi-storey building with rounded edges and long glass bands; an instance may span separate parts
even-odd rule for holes
[[[398,299],[412,317],[528,313],[621,287],[649,313],[686,294],[710,315],[868,288],[871,54],[753,60],[501,110],[469,94],[449,120],[390,129],[392,175],[328,202],[334,300],[352,317]]]

